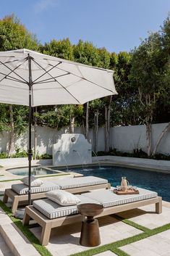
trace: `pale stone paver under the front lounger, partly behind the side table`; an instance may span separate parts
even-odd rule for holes
[[[109,244],[114,241],[125,239],[133,234],[140,234],[142,231],[129,226],[112,216],[105,216],[99,219],[101,245]],[[38,238],[41,235],[41,228],[35,227],[30,229]],[[68,256],[77,252],[82,252],[89,247],[80,245],[81,223],[76,225],[62,226],[54,228],[51,232],[51,238],[47,249],[54,256]]]

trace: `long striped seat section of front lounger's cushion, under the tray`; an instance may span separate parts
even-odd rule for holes
[[[111,190],[105,191],[92,191],[90,193],[86,193],[85,196],[90,199],[95,199],[98,202],[101,202],[104,208],[116,206],[116,205],[124,205],[130,202],[137,202],[145,199],[150,199],[153,197],[157,197],[158,194],[154,191],[150,191],[147,189],[138,189],[140,194],[126,194],[126,195],[117,195],[114,194]]]

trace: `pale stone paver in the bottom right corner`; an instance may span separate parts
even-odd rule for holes
[[[147,239],[135,241],[124,247],[120,247],[131,256],[162,256],[170,255],[170,230],[163,231]]]

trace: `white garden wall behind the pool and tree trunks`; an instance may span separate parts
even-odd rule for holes
[[[158,136],[161,134],[167,123],[152,125],[152,149],[156,145]],[[75,133],[83,133],[82,128],[75,128]],[[37,152],[39,154],[52,154],[52,145],[57,142],[62,133],[68,133],[68,128],[61,131],[47,127],[37,128]],[[123,126],[111,128],[110,146],[122,152],[132,152],[133,149],[143,149],[146,152],[145,125]],[[89,140],[94,144],[93,130],[89,132]],[[7,152],[9,134],[0,134],[0,152]],[[32,144],[34,145],[34,131],[32,132]],[[15,139],[15,146],[27,150],[27,133]],[[105,137],[104,128],[98,129],[98,150],[104,151]],[[94,148],[93,148],[94,149]],[[170,131],[163,137],[158,146],[158,152],[170,154]]]

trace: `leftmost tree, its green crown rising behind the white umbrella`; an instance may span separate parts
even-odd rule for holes
[[[17,19],[14,15],[4,17],[0,20],[0,51],[9,51],[14,49],[28,48],[36,50],[38,49],[38,41],[35,35],[28,32],[24,25],[20,23],[20,20]],[[1,105],[1,109],[7,109],[7,105]],[[14,152],[14,133],[21,133],[25,131],[25,115],[22,115],[21,112],[27,114],[26,107],[19,107],[9,105],[9,115],[7,115],[6,123],[9,124],[9,131],[11,131],[9,139],[9,149],[8,154]],[[19,113],[17,115],[16,113]],[[21,120],[21,117],[23,118]],[[19,128],[20,127],[20,128]]]

